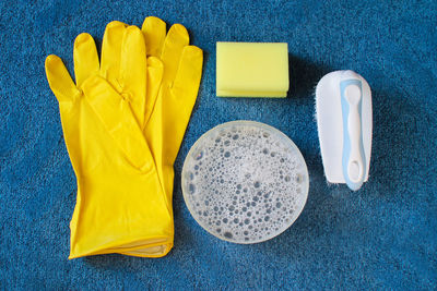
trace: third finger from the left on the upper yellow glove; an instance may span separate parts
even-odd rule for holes
[[[120,72],[121,41],[126,29],[127,25],[122,22],[113,21],[108,23],[102,43],[101,74],[117,88]]]

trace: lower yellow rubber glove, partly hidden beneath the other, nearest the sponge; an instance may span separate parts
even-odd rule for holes
[[[164,64],[164,75],[144,135],[151,146],[168,203],[172,203],[174,168],[202,75],[203,53],[189,46],[187,29],[175,24],[166,34],[165,22],[146,17],[142,31],[147,54]]]

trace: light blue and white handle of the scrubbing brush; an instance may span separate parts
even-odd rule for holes
[[[363,185],[366,177],[362,134],[362,82],[355,78],[342,81],[340,92],[343,117],[343,175],[347,186],[356,191]]]

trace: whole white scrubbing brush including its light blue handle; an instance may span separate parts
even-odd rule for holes
[[[371,92],[366,80],[350,70],[324,75],[316,87],[316,117],[328,182],[359,189],[368,180],[371,151]]]

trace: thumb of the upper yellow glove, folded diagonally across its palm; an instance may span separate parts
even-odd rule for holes
[[[98,75],[84,82],[83,93],[130,163],[141,171],[154,170],[152,154],[128,101]]]

